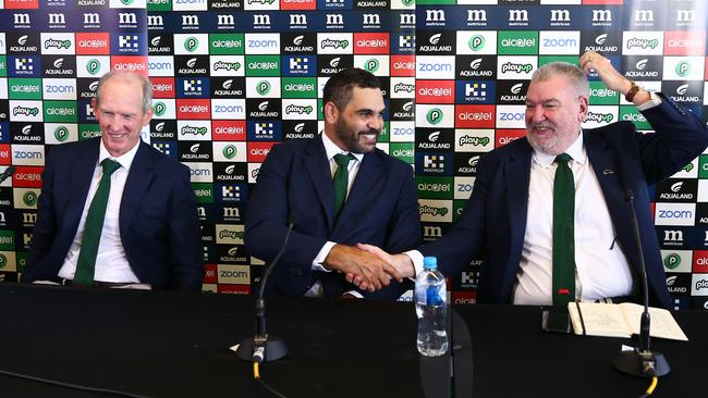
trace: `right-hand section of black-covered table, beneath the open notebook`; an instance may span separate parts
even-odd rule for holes
[[[456,397],[624,398],[648,386],[612,366],[621,345],[637,346],[635,339],[542,332],[539,307],[453,308]],[[651,349],[671,365],[652,397],[705,397],[708,312],[678,311],[674,318],[688,341],[651,339]]]

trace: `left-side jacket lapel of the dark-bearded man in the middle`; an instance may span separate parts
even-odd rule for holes
[[[305,149],[304,162],[331,231],[334,224],[334,192],[332,190],[332,172],[329,167],[321,137],[316,136],[310,140]]]

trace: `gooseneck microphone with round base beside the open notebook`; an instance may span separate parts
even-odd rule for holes
[[[631,189],[624,191],[624,200],[630,206],[632,215],[632,229],[634,233],[634,240],[637,247],[637,257],[639,259],[642,288],[644,290],[644,312],[639,324],[639,347],[635,347],[632,351],[620,351],[614,357],[612,363],[620,372],[631,374],[639,377],[663,376],[671,371],[669,362],[661,352],[651,352],[649,348],[649,285],[647,283],[647,269],[644,263],[644,254],[642,250],[642,238],[639,235],[639,223],[637,222],[637,213],[634,209],[634,192]]]

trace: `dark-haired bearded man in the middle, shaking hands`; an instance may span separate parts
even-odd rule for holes
[[[417,247],[413,170],[376,148],[384,104],[374,75],[358,69],[333,75],[322,103],[324,134],[274,146],[261,165],[248,201],[246,248],[271,262],[292,223],[268,294],[395,299],[411,282],[356,244],[393,252]],[[359,275],[366,289],[346,282],[346,273]]]

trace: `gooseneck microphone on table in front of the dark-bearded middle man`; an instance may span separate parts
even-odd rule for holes
[[[288,347],[285,341],[281,338],[269,337],[266,329],[266,300],[264,299],[264,293],[266,290],[266,283],[268,283],[268,277],[273,271],[278,261],[285,251],[288,246],[288,240],[290,240],[290,233],[293,231],[295,225],[295,216],[291,213],[288,217],[288,231],[285,232],[285,238],[283,244],[280,247],[280,250],[270,262],[270,265],[266,269],[260,278],[260,285],[258,288],[258,298],[256,298],[256,335],[253,337],[246,337],[241,340],[239,348],[236,349],[236,356],[239,359],[249,362],[270,362],[277,361],[288,355]]]

